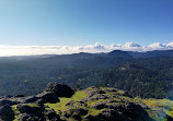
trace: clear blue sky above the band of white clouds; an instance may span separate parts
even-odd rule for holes
[[[173,41],[173,0],[0,0],[0,45]]]

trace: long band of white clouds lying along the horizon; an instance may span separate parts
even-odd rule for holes
[[[173,41],[169,44],[153,43],[149,46],[141,46],[135,43],[125,45],[88,45],[88,46],[8,46],[0,45],[0,57],[7,56],[33,56],[33,55],[67,55],[78,52],[109,52],[112,50],[124,51],[152,51],[152,50],[170,50],[173,49]]]

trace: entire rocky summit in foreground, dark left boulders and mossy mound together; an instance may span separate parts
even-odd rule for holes
[[[145,104],[140,106],[134,102],[132,97],[124,90],[90,87],[73,94],[74,90],[69,86],[49,83],[43,93],[35,96],[2,98],[0,121],[12,121],[14,110],[18,110],[15,118],[19,121],[152,121],[141,107],[146,107]],[[64,99],[61,107],[58,102]],[[172,120],[171,117],[166,118]]]

